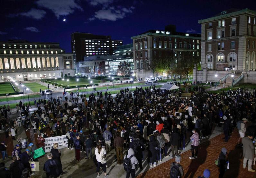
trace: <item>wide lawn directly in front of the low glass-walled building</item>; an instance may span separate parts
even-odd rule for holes
[[[79,79],[78,82],[77,82],[76,78],[69,79],[69,86],[76,86],[77,83],[78,83],[79,86],[80,85],[90,85],[90,81],[92,81],[93,84],[97,84],[99,82],[98,80],[94,80],[94,79],[90,79],[90,80],[89,79],[84,79],[84,78],[78,78],[78,79]],[[62,81],[62,79],[56,79],[56,80],[50,80],[50,81],[68,86],[67,79],[65,79],[64,81]]]

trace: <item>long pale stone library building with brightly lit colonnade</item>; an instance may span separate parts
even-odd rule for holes
[[[0,42],[0,82],[75,76],[72,53],[59,43],[9,40]]]

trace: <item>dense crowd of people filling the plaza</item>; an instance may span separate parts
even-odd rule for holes
[[[191,98],[182,98],[179,94],[171,96],[169,91],[156,89],[153,85],[152,89],[136,87],[133,92],[128,88],[122,89],[115,97],[107,91],[104,97],[102,92],[96,94],[98,99],[92,93],[88,100],[85,94],[79,95],[81,98],[72,95],[69,100],[66,96],[65,101],[59,97],[39,100],[36,102],[38,109],[31,116],[29,106],[20,103],[20,113],[17,119],[10,123],[9,128],[32,128],[34,133],[39,133],[37,146],[42,148],[44,137],[66,134],[68,149],[75,148],[77,161],[81,160],[81,151],[86,153],[86,159],[96,158],[97,177],[100,176],[100,167],[103,168],[104,177],[109,175],[106,173],[106,160],[107,153],[113,147],[117,164],[124,165],[126,177],[135,177],[137,166],[143,169],[142,162],[147,159],[146,151],[151,167],[169,157],[168,150],[171,148],[171,158],[175,158],[175,162],[170,166],[170,176],[184,177],[180,153],[190,141],[189,159],[197,159],[200,154],[197,148],[200,140],[208,139],[214,126],[223,126],[223,141],[226,142],[237,127],[241,136],[238,146],[243,144],[243,167],[246,167],[248,160],[248,171],[254,172],[251,163],[254,158],[252,139],[255,138],[255,127],[252,125],[246,131],[245,123],[248,120],[255,122],[255,90],[250,92],[237,89],[220,94],[202,91],[194,92]],[[50,135],[46,133],[48,128]],[[88,128],[89,133],[84,133],[83,128]],[[245,137],[245,133],[248,137]],[[61,152],[57,148],[58,144],[53,145],[52,149],[56,150],[51,149],[47,155],[48,161],[44,164],[47,177],[65,174],[60,161]],[[94,155],[92,149],[95,150]],[[123,151],[127,151],[124,156]],[[226,148],[222,148],[217,159],[219,177],[223,177],[228,170],[227,152]],[[16,166],[23,162],[19,161],[23,160],[20,156],[22,154],[19,145],[16,145],[13,156]],[[26,156],[24,166],[20,166],[20,170],[26,167],[27,161]],[[210,177],[209,170],[205,170],[203,174],[204,177]]]

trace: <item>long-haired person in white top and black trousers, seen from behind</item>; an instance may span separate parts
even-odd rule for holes
[[[106,157],[107,151],[105,150],[105,147],[101,145],[101,142],[99,141],[97,143],[97,146],[95,148],[95,156],[97,160],[97,177],[100,176],[100,167],[102,167],[104,171],[104,177],[107,177],[107,169],[106,169]]]

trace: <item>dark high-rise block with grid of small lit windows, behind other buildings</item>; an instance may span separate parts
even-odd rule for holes
[[[123,45],[123,41],[111,39],[111,36],[79,32],[71,34],[71,47],[75,64],[84,61],[84,57],[88,56],[114,55],[115,48],[120,45]]]

